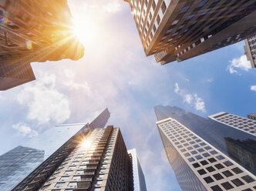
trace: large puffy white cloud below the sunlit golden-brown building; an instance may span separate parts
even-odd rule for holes
[[[61,123],[69,119],[69,100],[56,90],[56,75],[38,76],[33,83],[17,95],[19,104],[29,107],[28,119],[35,119],[39,124],[50,120]]]

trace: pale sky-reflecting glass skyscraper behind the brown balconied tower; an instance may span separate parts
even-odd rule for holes
[[[106,115],[109,114],[106,113]],[[109,118],[96,119],[105,126]],[[86,134],[89,129],[89,123],[56,126],[0,156],[0,190],[20,191],[19,188],[25,184],[22,179],[25,179],[29,174],[33,175],[32,172],[38,166],[44,166],[49,158],[52,159],[51,157],[56,153],[56,150],[72,136],[81,132]]]

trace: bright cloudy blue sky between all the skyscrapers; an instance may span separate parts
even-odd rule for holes
[[[163,151],[153,106],[200,116],[256,112],[256,69],[244,42],[161,66],[146,57],[122,0],[69,0],[86,52],[79,61],[32,63],[36,80],[0,92],[0,154],[56,124],[87,122],[108,107],[109,125],[136,148],[147,188],[179,191]]]

